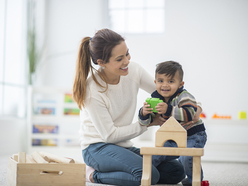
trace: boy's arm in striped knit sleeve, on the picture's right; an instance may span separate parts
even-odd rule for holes
[[[163,117],[167,119],[173,116],[178,121],[188,122],[193,120],[196,111],[197,103],[194,96],[187,91],[183,91],[177,99],[172,101],[171,105],[168,104],[167,112]]]

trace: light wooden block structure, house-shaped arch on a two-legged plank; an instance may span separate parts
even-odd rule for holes
[[[163,147],[173,140],[178,147]],[[201,185],[201,156],[203,148],[187,148],[187,132],[174,117],[170,117],[156,132],[155,147],[141,147],[143,172],[141,186],[151,185],[152,155],[193,156],[192,185]]]

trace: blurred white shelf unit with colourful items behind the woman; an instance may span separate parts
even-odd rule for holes
[[[66,88],[29,87],[27,153],[81,156],[79,109],[68,99],[71,93]]]

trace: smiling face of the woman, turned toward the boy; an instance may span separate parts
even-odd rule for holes
[[[101,65],[105,67],[104,73],[107,76],[107,83],[116,84],[119,82],[120,76],[126,76],[128,74],[130,59],[131,56],[125,41],[122,41],[112,49],[109,62]]]

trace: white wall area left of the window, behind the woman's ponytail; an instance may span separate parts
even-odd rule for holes
[[[39,66],[38,85],[72,87],[80,41],[85,36],[93,36],[105,26],[105,2],[106,0],[46,1],[46,57]]]

